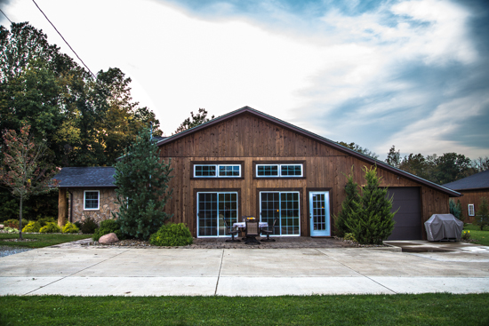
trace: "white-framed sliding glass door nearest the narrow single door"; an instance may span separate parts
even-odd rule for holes
[[[261,191],[260,221],[278,221],[272,235],[301,235],[301,200],[299,191]]]

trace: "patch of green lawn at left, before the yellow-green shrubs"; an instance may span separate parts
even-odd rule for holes
[[[69,243],[76,240],[86,239],[92,237],[92,235],[28,235],[22,234],[24,239],[36,239],[36,241],[29,242],[7,242],[5,239],[19,239],[19,234],[0,234],[0,246],[12,246],[23,248],[43,248],[52,246],[53,244]]]

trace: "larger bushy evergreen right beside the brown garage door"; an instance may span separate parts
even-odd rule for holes
[[[365,167],[366,185],[362,189],[359,202],[353,201],[353,210],[345,224],[362,244],[381,244],[394,229],[394,215],[391,213],[392,197],[387,196],[387,188],[379,187],[381,178],[377,168]]]

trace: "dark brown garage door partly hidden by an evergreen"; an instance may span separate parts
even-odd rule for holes
[[[391,187],[396,225],[388,240],[421,240],[421,196],[419,187]]]

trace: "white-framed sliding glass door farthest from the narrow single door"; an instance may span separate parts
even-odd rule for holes
[[[229,227],[237,222],[237,193],[197,193],[197,236],[230,236],[224,219]]]

